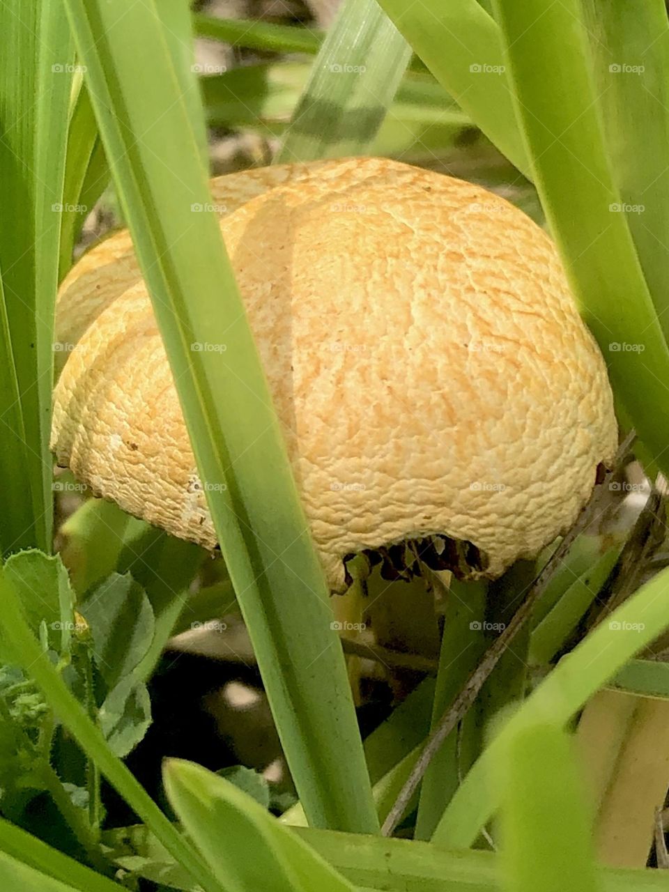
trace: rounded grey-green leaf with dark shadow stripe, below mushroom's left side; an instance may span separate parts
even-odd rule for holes
[[[151,602],[130,574],[112,573],[91,592],[79,613],[90,628],[95,662],[111,690],[136,669],[151,647],[155,631]]]

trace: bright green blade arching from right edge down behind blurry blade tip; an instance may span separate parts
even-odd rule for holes
[[[575,648],[524,701],[485,749],[458,788],[432,841],[449,848],[472,846],[497,810],[491,767],[518,727],[549,717],[566,724],[641,648],[669,626],[669,571],[647,582]]]

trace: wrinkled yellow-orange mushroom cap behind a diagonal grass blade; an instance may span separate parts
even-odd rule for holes
[[[375,158],[249,170],[212,198],[333,591],[362,550],[465,541],[467,574],[494,578],[573,524],[617,428],[540,227],[479,186]],[[77,344],[54,392],[58,463],[215,546],[127,233],[73,268],[56,330]]]

